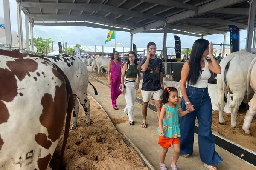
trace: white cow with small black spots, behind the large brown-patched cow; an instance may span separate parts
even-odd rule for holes
[[[90,82],[87,69],[87,59],[80,59],[79,57],[73,57],[69,54],[48,56],[47,59],[61,68],[61,70],[69,79],[70,85],[72,87],[73,122],[71,130],[75,129],[77,126],[76,123],[79,111],[79,102],[84,108],[86,124],[87,126],[90,125],[90,101],[87,98],[88,83]],[[90,85],[92,84],[90,83]],[[96,95],[98,94],[95,88],[94,92]]]

